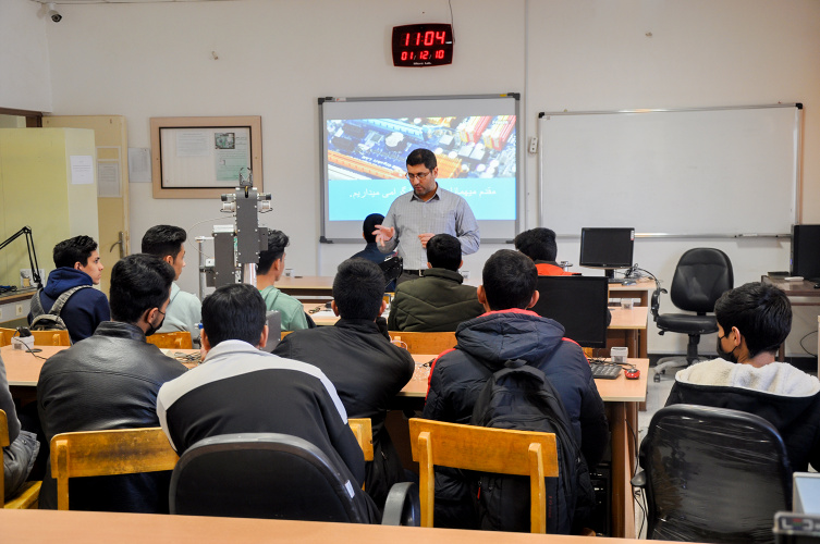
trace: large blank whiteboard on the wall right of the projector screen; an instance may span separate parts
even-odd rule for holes
[[[541,224],[787,234],[801,104],[539,115]]]

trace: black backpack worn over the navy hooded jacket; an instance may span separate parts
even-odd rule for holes
[[[522,360],[504,366],[481,390],[470,424],[554,433],[559,477],[544,478],[547,532],[578,531],[595,509],[595,491],[564,404],[539,369]],[[475,497],[481,529],[529,531],[528,477],[478,473]]]

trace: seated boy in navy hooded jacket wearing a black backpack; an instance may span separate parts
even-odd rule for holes
[[[540,369],[561,396],[575,438],[592,469],[609,442],[603,400],[592,380],[584,350],[563,338],[564,329],[527,310],[538,301],[538,273],[530,259],[501,249],[485,263],[478,299],[488,313],[464,323],[458,345],[433,362],[424,417],[469,423],[484,384],[507,360],[523,359]],[[439,485],[440,477],[446,485]],[[467,482],[437,473],[436,526],[474,528]]]

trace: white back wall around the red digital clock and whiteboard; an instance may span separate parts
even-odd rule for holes
[[[264,223],[291,236],[287,265],[304,275],[330,274],[354,250],[316,242],[316,101],[323,96],[521,91],[522,136],[535,134],[539,111],[801,101],[803,221],[820,222],[820,2],[453,0],[452,5],[454,63],[421,70],[392,66],[391,27],[448,22],[445,0],[61,5],[63,21],[46,25],[53,112],[125,115],[131,147],[149,147],[151,116],[261,115],[265,189],[274,198],[274,212]],[[39,28],[33,10],[16,11],[23,24]],[[2,34],[0,44],[3,51]],[[525,166],[525,212],[527,225],[535,226],[534,156]],[[192,236],[210,232],[213,222],[192,226],[203,220],[229,222],[216,201],[154,200],[148,185],[131,189],[134,240],[160,221],[188,227]],[[714,187],[701,198],[724,200],[726,213],[743,213],[743,195]],[[640,240],[636,260],[669,283],[680,255],[701,244]],[[710,245],[730,255],[737,284],[788,267],[788,245],[776,240]],[[465,259],[465,268],[478,274],[494,249],[482,247]],[[577,246],[560,240],[559,257],[577,262]],[[183,287],[191,290],[194,269],[183,274]],[[664,302],[664,311],[671,310]],[[797,312],[790,353],[799,351],[794,338],[813,330],[813,314],[805,311]],[[684,345],[676,335],[650,332],[650,351],[683,351]],[[703,345],[711,349],[713,338]]]

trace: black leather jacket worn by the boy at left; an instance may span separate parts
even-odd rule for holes
[[[157,392],[186,368],[135,325],[103,321],[93,336],[49,358],[37,384],[48,443],[60,433],[159,426]],[[169,472],[72,480],[72,510],[167,512]],[[50,462],[40,508],[57,507]]]

